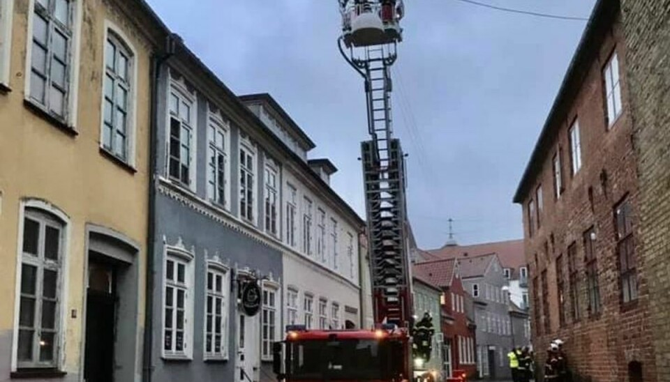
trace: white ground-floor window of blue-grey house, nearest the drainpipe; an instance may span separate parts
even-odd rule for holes
[[[179,252],[168,251],[165,259],[165,310],[163,314],[163,356],[191,356],[190,261]]]

